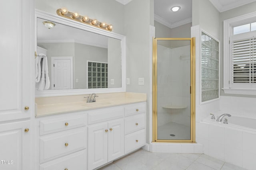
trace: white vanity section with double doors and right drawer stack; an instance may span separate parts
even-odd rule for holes
[[[146,102],[88,111],[88,170],[146,143]]]

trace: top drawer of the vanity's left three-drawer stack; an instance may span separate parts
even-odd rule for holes
[[[73,129],[86,125],[86,114],[59,119],[41,120],[40,135]]]

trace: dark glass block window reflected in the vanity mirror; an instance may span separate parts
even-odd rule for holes
[[[88,88],[108,88],[108,63],[87,61]]]

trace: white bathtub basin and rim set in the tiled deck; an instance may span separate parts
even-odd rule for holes
[[[224,114],[224,113],[223,113]],[[229,113],[230,114],[230,113]],[[248,131],[255,131],[256,132],[256,118],[248,118],[248,117],[240,117],[238,115],[232,115],[231,117],[225,116],[221,122],[217,122],[216,119],[222,115],[216,114],[215,119],[211,119],[212,116],[206,117],[203,122],[213,123],[217,125],[223,125],[233,128],[238,128],[240,130],[248,130]],[[224,124],[224,119],[228,119],[228,124]]]

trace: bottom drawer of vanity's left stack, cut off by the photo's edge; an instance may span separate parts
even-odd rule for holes
[[[40,170],[87,170],[87,151],[79,152],[46,162],[40,165]]]

